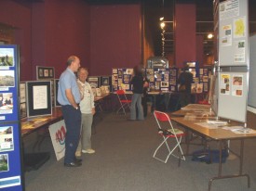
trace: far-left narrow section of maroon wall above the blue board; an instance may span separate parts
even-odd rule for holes
[[[1,0],[0,7],[0,22],[15,28],[15,44],[20,45],[20,81],[31,80],[31,7],[9,0]]]

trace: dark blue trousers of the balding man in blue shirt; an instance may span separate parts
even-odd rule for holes
[[[62,114],[66,125],[64,163],[74,162],[75,151],[81,132],[81,111],[71,105],[62,106]]]

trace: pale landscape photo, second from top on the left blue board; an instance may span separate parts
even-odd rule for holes
[[[1,70],[0,73],[0,89],[5,90],[5,87],[14,87],[15,78],[14,70]]]

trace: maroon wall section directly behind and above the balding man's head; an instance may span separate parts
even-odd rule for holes
[[[89,67],[89,6],[83,0],[45,0],[34,6],[34,70],[55,67],[59,78],[69,56],[80,57]]]

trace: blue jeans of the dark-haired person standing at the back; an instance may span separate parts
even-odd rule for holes
[[[138,108],[138,120],[144,120],[143,108],[141,105],[142,94],[133,94],[130,105],[130,120],[136,120],[136,106]]]

